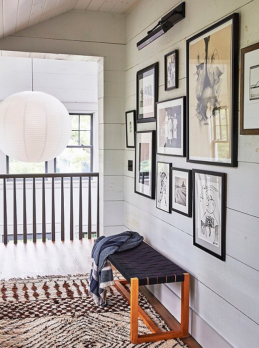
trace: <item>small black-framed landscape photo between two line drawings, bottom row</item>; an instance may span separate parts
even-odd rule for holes
[[[171,168],[171,210],[192,216],[192,171]]]

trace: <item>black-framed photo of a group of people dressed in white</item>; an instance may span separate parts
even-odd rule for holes
[[[185,157],[185,96],[156,103],[156,152]]]

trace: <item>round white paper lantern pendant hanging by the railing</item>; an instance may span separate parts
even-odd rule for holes
[[[70,115],[50,94],[24,91],[0,104],[0,149],[14,160],[52,160],[67,147],[70,136]]]

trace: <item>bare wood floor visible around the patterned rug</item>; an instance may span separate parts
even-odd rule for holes
[[[17,245],[0,243],[0,279],[35,277],[37,275],[66,275],[88,273],[91,268],[93,241],[57,241],[55,243],[28,242]],[[176,319],[162,304],[141,286],[140,291],[148,298],[171,330],[176,329]],[[202,348],[192,337],[182,339],[190,348]]]

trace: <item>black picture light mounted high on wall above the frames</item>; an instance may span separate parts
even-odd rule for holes
[[[164,15],[156,26],[149,30],[142,40],[137,42],[136,47],[138,51],[165,34],[183,18],[185,18],[185,2],[180,3],[173,10]]]

